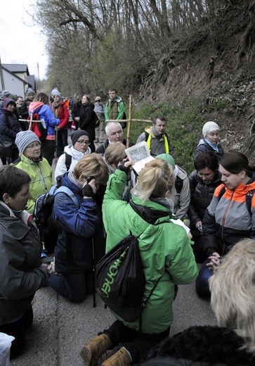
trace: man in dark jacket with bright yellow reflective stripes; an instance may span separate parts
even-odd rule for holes
[[[171,139],[169,134],[166,133],[166,118],[157,115],[153,121],[152,127],[146,127],[145,132],[140,134],[136,144],[140,141],[146,141],[150,150],[150,155],[155,156],[160,153],[172,153],[174,152],[174,146],[171,145]]]

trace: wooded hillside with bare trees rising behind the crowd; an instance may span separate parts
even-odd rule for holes
[[[225,151],[255,162],[255,0],[37,0],[31,9],[47,37],[42,91],[106,102],[115,88],[127,111],[131,94],[132,118],[166,116],[188,173],[209,120]],[[131,141],[146,125],[132,122]]]

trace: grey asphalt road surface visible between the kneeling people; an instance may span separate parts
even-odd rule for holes
[[[98,296],[96,303],[93,308],[91,295],[83,303],[73,304],[49,287],[37,291],[33,301],[34,322],[27,332],[27,349],[11,361],[11,366],[84,365],[79,356],[82,344],[114,320]],[[216,324],[216,319],[209,301],[197,297],[195,284],[179,286],[171,334],[193,324]],[[108,351],[107,357],[111,353]]]

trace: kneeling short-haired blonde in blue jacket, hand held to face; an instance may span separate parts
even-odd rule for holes
[[[53,220],[60,234],[55,248],[56,273],[49,285],[74,303],[93,293],[93,265],[105,253],[99,193],[108,177],[102,156],[92,153],[81,158],[73,172],[57,178],[58,186],[68,187],[76,202],[63,192],[54,199]]]

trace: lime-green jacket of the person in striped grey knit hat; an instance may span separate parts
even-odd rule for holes
[[[37,197],[49,191],[53,185],[51,166],[46,158],[42,158],[39,163],[33,163],[32,160],[26,158],[23,154],[11,165],[25,170],[31,178],[30,193],[32,198],[27,202],[26,210],[32,214]]]

